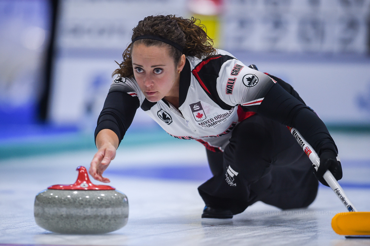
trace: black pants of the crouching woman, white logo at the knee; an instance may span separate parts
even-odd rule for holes
[[[213,177],[198,187],[206,205],[243,212],[256,201],[304,208],[317,195],[312,163],[286,126],[254,115],[239,123],[225,151],[207,150]]]

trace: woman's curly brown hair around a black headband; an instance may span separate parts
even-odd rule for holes
[[[168,16],[148,16],[144,20],[139,21],[137,27],[133,28],[131,40],[141,35],[156,35],[171,40],[184,50],[173,47],[162,41],[152,39],[140,39],[135,41],[135,44],[145,44],[146,46],[162,46],[167,45],[170,50],[171,57],[174,58],[175,65],[178,65],[182,54],[195,56],[197,58],[207,57],[216,54],[216,49],[213,48],[213,40],[208,37],[206,28],[197,18],[184,19],[175,15]],[[112,76],[118,75],[121,77],[132,77],[134,71],[132,69],[132,42],[127,46],[122,54],[123,61],[118,64],[120,68],[116,69]]]

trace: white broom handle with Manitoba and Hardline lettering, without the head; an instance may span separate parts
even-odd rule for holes
[[[312,163],[314,164],[314,168],[317,171],[317,168],[320,165],[320,158],[315,152],[315,150],[307,143],[307,141],[302,137],[302,135],[295,129],[294,127],[289,127],[290,133],[293,134],[293,137],[297,140],[299,145],[303,148],[306,155],[310,158]],[[340,161],[339,156],[337,156],[337,160]],[[347,195],[344,193],[343,188],[340,187],[338,184],[338,181],[334,178],[333,174],[327,170],[324,174],[324,180],[327,182],[327,184],[332,188],[334,193],[337,195],[337,197],[340,199],[340,201],[343,202],[344,206],[348,209],[349,212],[356,212],[357,209],[354,208],[352,202],[348,199]]]

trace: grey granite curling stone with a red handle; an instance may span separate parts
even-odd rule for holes
[[[35,198],[37,225],[57,233],[100,234],[118,230],[128,219],[125,194],[109,185],[91,183],[85,167],[78,167],[71,185],[52,185]]]

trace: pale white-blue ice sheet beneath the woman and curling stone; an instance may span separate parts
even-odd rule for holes
[[[344,170],[340,184],[359,211],[370,211],[369,135],[333,138]],[[281,211],[257,202],[233,219],[201,219],[204,204],[196,188],[211,174],[201,144],[185,140],[117,151],[106,176],[128,197],[124,228],[104,235],[62,235],[38,227],[33,217],[37,193],[73,183],[75,168],[88,167],[93,155],[91,150],[0,161],[0,245],[370,245],[370,239],[346,239],[332,230],[332,217],[346,210],[323,186],[307,209]],[[185,177],[179,179],[178,172]]]

